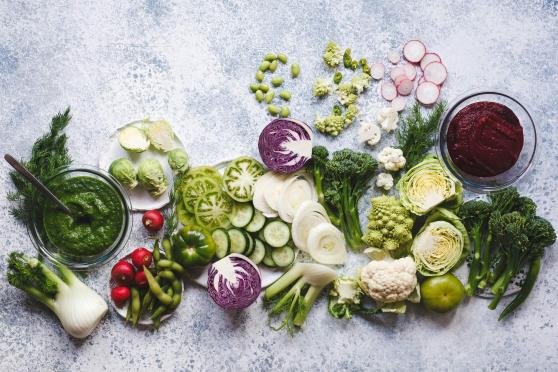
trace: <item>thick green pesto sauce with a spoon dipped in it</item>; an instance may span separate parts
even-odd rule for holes
[[[49,186],[73,212],[69,216],[50,201],[43,209],[46,235],[61,253],[96,255],[118,239],[124,210],[119,195],[110,185],[97,178],[79,176]]]

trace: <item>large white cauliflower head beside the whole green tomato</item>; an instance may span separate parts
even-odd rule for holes
[[[360,286],[379,303],[404,301],[417,286],[417,267],[411,257],[371,261],[360,272]]]

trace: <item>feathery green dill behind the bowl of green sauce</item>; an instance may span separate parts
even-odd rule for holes
[[[72,162],[66,146],[68,137],[62,133],[71,119],[69,107],[63,113],[54,116],[50,123],[50,131],[33,144],[31,158],[21,161],[23,166],[42,182],[54,176],[57,169]],[[7,195],[8,200],[14,203],[14,206],[10,207],[10,214],[18,221],[27,223],[37,191],[16,171],[10,172],[10,178],[15,186],[15,191]]]

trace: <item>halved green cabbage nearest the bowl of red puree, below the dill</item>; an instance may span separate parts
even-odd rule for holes
[[[458,207],[463,203],[461,183],[447,173],[434,155],[427,156],[409,169],[396,187],[401,204],[419,216],[442,203],[447,208]]]

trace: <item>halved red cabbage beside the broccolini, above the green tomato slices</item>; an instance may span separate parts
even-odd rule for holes
[[[301,121],[275,119],[258,141],[264,164],[278,173],[294,173],[312,157],[312,130]]]

